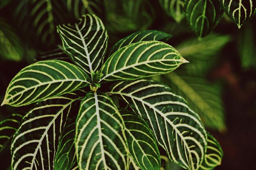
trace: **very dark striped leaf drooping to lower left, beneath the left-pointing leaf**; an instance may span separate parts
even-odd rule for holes
[[[58,139],[76,101],[75,93],[38,103],[22,119],[11,144],[11,167],[53,170]]]

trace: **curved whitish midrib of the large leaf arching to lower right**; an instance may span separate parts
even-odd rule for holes
[[[176,126],[169,120],[169,119],[166,119],[166,116],[164,116],[163,113],[159,112],[159,110],[155,109],[155,107],[153,105],[151,105],[150,103],[146,103],[145,101],[141,100],[140,98],[137,98],[135,96],[132,96],[130,94],[126,94],[126,93],[121,93],[121,92],[111,92],[111,94],[119,94],[119,95],[124,95],[124,96],[128,96],[130,98],[134,98],[136,99],[137,101],[140,101],[141,103],[144,103],[145,105],[147,105],[148,107],[150,107],[151,109],[155,110],[155,112],[157,112],[158,114],[160,114],[168,123],[170,123],[170,125],[173,127],[173,129],[175,130],[175,132],[177,132],[177,134],[180,136],[180,138],[182,139],[186,149],[189,151],[189,158],[190,158],[190,161],[191,161],[191,165],[193,165],[193,159],[192,159],[192,155],[191,155],[191,152],[190,152],[190,148],[188,146],[188,144],[186,143],[186,140],[183,138],[182,134],[180,133],[179,130],[177,130]],[[189,168],[189,165],[185,165],[187,166],[187,168]],[[194,168],[194,167],[192,167]]]

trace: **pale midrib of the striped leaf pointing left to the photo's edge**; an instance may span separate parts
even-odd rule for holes
[[[65,82],[65,81],[81,81],[81,82],[89,83],[88,81],[84,81],[84,80],[81,80],[81,79],[65,79],[65,80],[55,80],[55,81],[48,81],[48,82],[40,83],[40,84],[38,84],[38,85],[34,85],[34,86],[31,86],[31,87],[28,87],[28,88],[26,88],[26,89],[24,89],[24,90],[22,90],[22,91],[16,93],[15,95],[11,96],[11,97],[8,98],[7,100],[4,100],[4,101],[2,102],[2,104],[1,104],[1,106],[4,105],[5,103],[7,103],[8,101],[10,101],[11,99],[13,99],[14,97],[16,97],[16,96],[18,96],[18,95],[20,95],[20,94],[23,94],[24,92],[26,92],[26,91],[28,91],[28,90],[30,90],[30,89],[34,89],[34,88],[40,87],[40,86],[42,86],[42,85],[48,85],[48,84],[52,84],[52,83],[60,83],[60,82]],[[15,87],[15,86],[13,86],[13,87]],[[6,96],[6,97],[7,97],[7,96]],[[6,97],[5,97],[5,98],[6,98]]]

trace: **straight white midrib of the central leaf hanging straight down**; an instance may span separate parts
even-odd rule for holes
[[[100,143],[100,148],[101,148],[101,156],[102,156],[102,160],[103,160],[104,169],[108,170],[108,166],[105,161],[105,154],[104,154],[102,133],[101,133],[101,118],[99,116],[99,101],[98,101],[98,96],[97,96],[96,92],[94,92],[94,98],[95,98],[95,106],[96,106],[96,114],[97,114],[97,128],[99,130],[99,143]]]

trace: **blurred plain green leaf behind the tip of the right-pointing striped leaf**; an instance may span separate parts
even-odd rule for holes
[[[214,64],[218,60],[216,56],[220,55],[221,49],[230,41],[229,35],[212,33],[202,40],[191,38],[182,41],[175,48],[189,60],[189,64],[182,65],[188,74],[206,75],[215,66]]]

